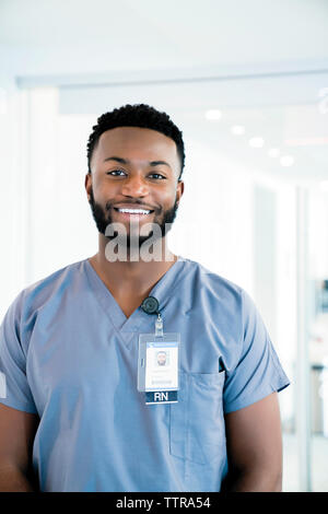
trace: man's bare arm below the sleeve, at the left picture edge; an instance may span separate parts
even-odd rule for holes
[[[32,492],[32,447],[38,417],[0,404],[0,491]]]

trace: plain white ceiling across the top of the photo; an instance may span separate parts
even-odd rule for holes
[[[328,61],[327,0],[0,0],[2,73]]]

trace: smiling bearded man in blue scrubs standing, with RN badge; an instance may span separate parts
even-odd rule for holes
[[[166,245],[181,132],[127,105],[98,118],[87,160],[97,254],[22,291],[1,326],[0,490],[280,491],[289,381],[263,323],[239,287]],[[139,386],[140,335],[171,344],[173,402]]]

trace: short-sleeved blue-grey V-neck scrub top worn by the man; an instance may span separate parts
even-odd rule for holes
[[[89,259],[24,289],[0,329],[0,401],[40,422],[42,491],[220,491],[224,414],[289,385],[263,322],[238,285],[179,259],[154,285],[164,331],[180,332],[177,404],[145,405],[138,336]],[[220,365],[220,362],[221,365]]]

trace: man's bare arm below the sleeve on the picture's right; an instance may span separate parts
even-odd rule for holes
[[[229,475],[222,490],[279,492],[282,437],[278,394],[225,416]]]

